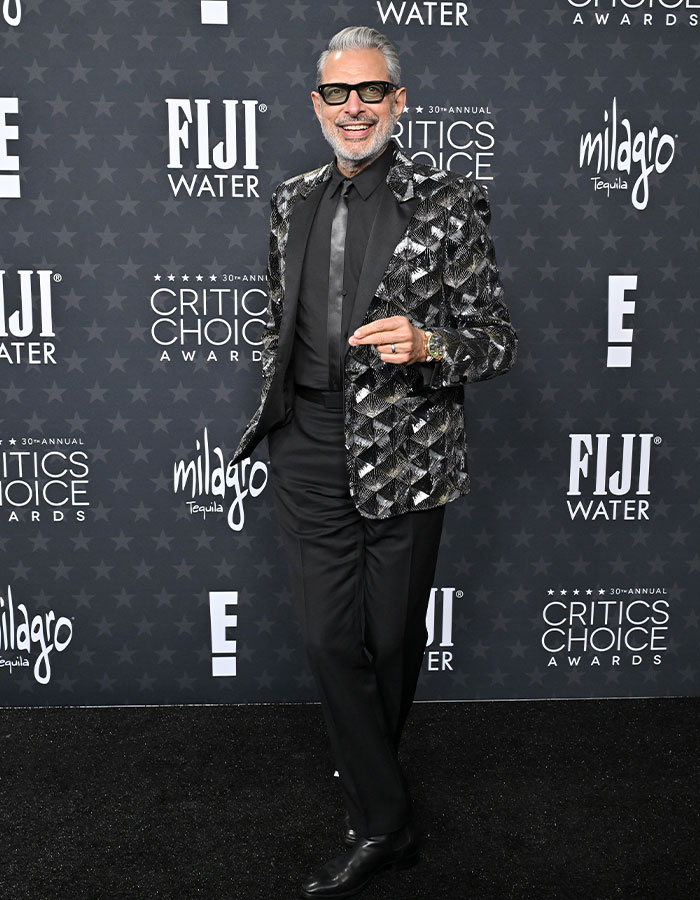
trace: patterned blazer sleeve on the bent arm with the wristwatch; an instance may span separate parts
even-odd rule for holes
[[[461,182],[444,239],[442,302],[448,324],[430,327],[444,342],[440,361],[419,364],[423,386],[484,381],[511,368],[517,336],[504,303],[503,285],[489,231],[484,188]]]

